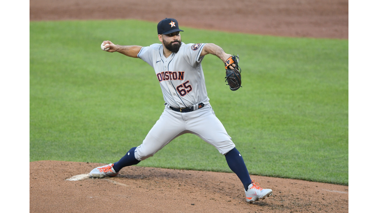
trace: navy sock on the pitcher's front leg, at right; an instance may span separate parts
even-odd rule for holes
[[[247,191],[248,186],[252,183],[250,174],[248,173],[246,164],[240,152],[233,148],[231,151],[225,154],[228,167],[234,172],[238,178],[242,181],[244,189]]]

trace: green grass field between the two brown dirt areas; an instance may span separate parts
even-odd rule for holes
[[[185,43],[239,54],[243,88],[222,62],[202,66],[211,104],[252,175],[348,185],[348,40],[255,36],[181,27]],[[30,161],[111,163],[139,145],[163,98],[140,59],[100,50],[158,43],[156,23],[30,22]],[[138,166],[231,172],[224,156],[184,135]]]

